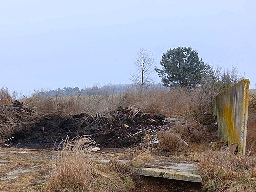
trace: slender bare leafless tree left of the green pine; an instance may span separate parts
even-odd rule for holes
[[[151,74],[153,72],[153,65],[155,58],[153,54],[146,49],[140,49],[136,56],[134,65],[136,66],[136,72],[130,74],[130,80],[134,84],[138,84],[141,90],[150,86],[153,83]]]

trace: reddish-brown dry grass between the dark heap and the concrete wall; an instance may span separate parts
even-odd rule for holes
[[[172,116],[167,118],[168,131],[157,134],[159,147],[164,151],[186,152],[193,144],[209,145],[218,141],[216,119],[211,115]]]

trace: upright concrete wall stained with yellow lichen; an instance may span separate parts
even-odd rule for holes
[[[218,129],[223,141],[238,144],[239,154],[245,154],[249,79],[243,79],[215,98],[213,113],[218,119]]]

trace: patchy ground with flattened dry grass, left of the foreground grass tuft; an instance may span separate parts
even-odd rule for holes
[[[50,151],[0,148],[0,191],[40,191],[50,175]]]

